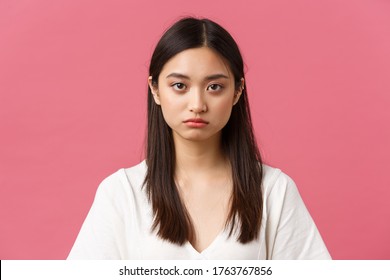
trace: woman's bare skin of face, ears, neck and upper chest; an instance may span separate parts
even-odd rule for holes
[[[152,84],[152,77],[148,83],[172,129],[175,180],[195,228],[192,246],[202,252],[223,231],[230,210],[232,175],[221,149],[221,131],[241,96],[244,79],[237,89],[226,60],[200,47],[175,55],[164,65],[158,85]]]

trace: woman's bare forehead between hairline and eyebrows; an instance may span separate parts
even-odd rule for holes
[[[227,61],[208,47],[187,49],[173,56],[164,65],[160,76],[166,77],[170,73],[194,78],[215,74],[233,77]]]

